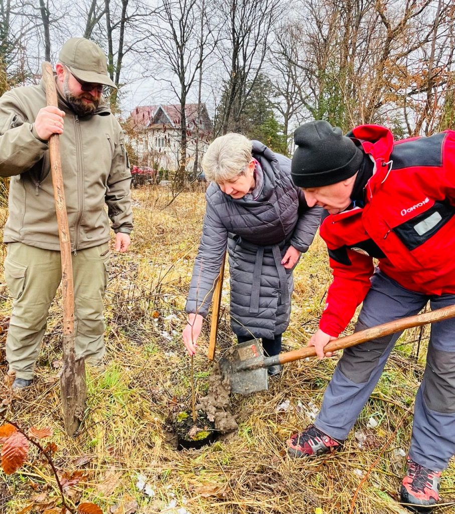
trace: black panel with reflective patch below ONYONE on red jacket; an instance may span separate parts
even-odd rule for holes
[[[414,250],[429,240],[455,215],[449,204],[435,202],[427,211],[398,225],[393,232],[409,250]]]

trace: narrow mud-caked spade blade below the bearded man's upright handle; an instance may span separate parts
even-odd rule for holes
[[[84,357],[75,358],[73,335],[64,335],[63,345],[60,396],[63,406],[63,423],[68,435],[73,436],[81,426],[87,400],[85,362]]]

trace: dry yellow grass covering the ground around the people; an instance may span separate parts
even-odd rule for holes
[[[36,383],[21,398],[14,398],[5,414],[24,427],[51,426],[52,440],[59,447],[56,465],[66,471],[83,470],[87,479],[77,489],[85,501],[99,504],[104,512],[134,512],[136,504],[139,514],[407,512],[395,502],[404,469],[404,458],[396,454],[399,449],[406,451],[409,442],[410,407],[423,372],[426,330],[408,331],[403,337],[342,452],[312,461],[293,461],[285,455],[290,434],[311,423],[335,359],[288,364],[282,378],[271,381],[269,391],[232,396],[237,433],[202,450],[172,448],[165,421],[190,401],[189,359],[180,334],[204,199],[201,191],[185,193],[165,207],[169,198],[163,190],[135,190],[133,195],[133,243],[128,254],[113,258],[105,302],[107,365],[101,373],[89,370],[83,430],[71,439],[62,429],[55,367],[60,358],[60,297],[51,308]],[[306,343],[324,304],[330,272],[319,239],[297,267],[295,283],[286,349]],[[218,356],[233,340],[227,289],[225,281]],[[6,328],[10,299],[4,285],[0,295]],[[195,359],[199,396],[206,390],[210,370],[207,335],[208,324]],[[420,335],[420,354],[415,357]],[[2,336],[0,371],[5,374]],[[6,388],[0,387],[2,397],[8,398]],[[371,416],[378,426],[367,429]],[[355,431],[368,436],[366,447],[359,448]],[[147,484],[143,490],[137,486],[138,475]],[[30,481],[49,497],[57,494],[50,470],[32,455],[20,473],[0,474],[0,513],[16,514],[27,504],[36,494]],[[453,462],[444,474],[442,496],[455,497]],[[455,508],[447,505],[438,512],[453,513]]]

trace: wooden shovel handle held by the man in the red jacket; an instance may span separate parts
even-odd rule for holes
[[[450,307],[442,307],[441,309],[432,310],[429,313],[418,314],[416,316],[408,316],[396,321],[389,321],[382,325],[377,325],[372,328],[367,328],[360,332],[354,332],[346,337],[341,337],[334,341],[331,341],[324,347],[324,352],[335,352],[336,350],[342,350],[343,348],[349,348],[356,344],[370,341],[378,337],[388,336],[395,332],[403,331],[405,328],[411,328],[414,326],[426,325],[427,323],[435,323],[455,316],[455,305]],[[279,355],[279,361],[281,364],[285,362],[292,362],[294,360],[305,359],[306,357],[314,357],[316,351],[314,346],[306,346],[300,348],[300,350],[294,350],[292,352],[286,352]]]

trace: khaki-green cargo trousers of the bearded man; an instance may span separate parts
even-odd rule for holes
[[[104,355],[103,297],[109,276],[109,243],[71,254],[76,356],[97,365]],[[46,331],[50,304],[62,279],[60,252],[8,243],[5,280],[13,311],[6,358],[16,377],[31,379]]]

